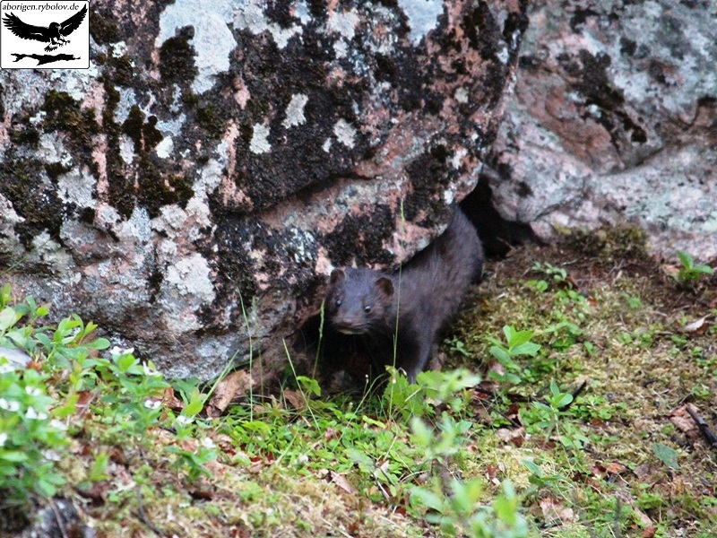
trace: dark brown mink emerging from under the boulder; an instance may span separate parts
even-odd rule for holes
[[[395,364],[415,383],[482,264],[476,229],[456,209],[444,233],[395,273],[335,269],[324,303],[329,326],[364,343],[376,368]]]

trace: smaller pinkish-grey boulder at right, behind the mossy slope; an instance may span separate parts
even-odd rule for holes
[[[717,4],[542,1],[490,158],[506,221],[717,256]]]

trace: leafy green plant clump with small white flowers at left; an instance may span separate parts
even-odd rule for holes
[[[78,483],[82,489],[108,478],[108,452],[102,445],[120,446],[130,439],[130,447],[136,441],[142,449],[151,446],[152,431],[160,425],[173,427],[177,441],[194,438],[200,428],[195,417],[206,396],[195,381],[179,383],[185,406],[175,416],[163,405],[171,386],[151,360],[143,363],[134,350],[118,347],[103,357],[99,351],[110,343],[95,337],[97,325],[73,315],[56,326],[35,326],[47,315],[48,308],[31,297],[13,304],[10,287],[0,288],[0,348],[22,351],[34,360],[22,367],[0,358],[4,506],[21,507],[32,496],[56,495],[65,483],[56,463],[70,443],[68,428],[82,431],[86,423],[94,424],[99,444],[94,463]],[[81,396],[89,400],[82,421],[75,420]],[[186,471],[189,481],[205,473],[204,464],[217,456],[210,438],[197,440],[194,450],[173,446],[168,452],[175,454],[175,466]],[[127,456],[141,456],[141,450],[129,450]]]

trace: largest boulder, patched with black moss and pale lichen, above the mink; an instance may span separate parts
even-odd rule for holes
[[[474,187],[525,9],[93,2],[89,70],[0,72],[4,280],[171,376],[285,361],[333,266],[402,262]]]

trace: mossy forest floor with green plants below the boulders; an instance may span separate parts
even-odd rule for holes
[[[0,299],[0,536],[715,535],[717,276],[633,229],[489,262],[443,369],[363,397],[170,384]]]

